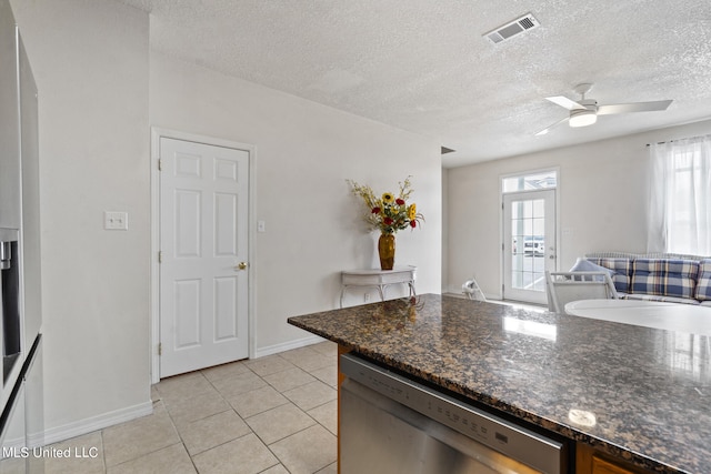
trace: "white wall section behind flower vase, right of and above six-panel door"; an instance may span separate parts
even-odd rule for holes
[[[150,63],[151,125],[256,147],[258,355],[311,336],[287,317],[337,307],[341,270],[378,265],[346,179],[397,192],[412,175],[427,222],[398,233],[395,264],[418,266],[420,293],[440,292],[439,143],[160,53]]]

